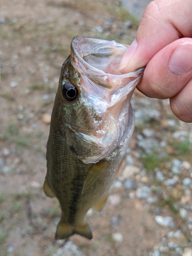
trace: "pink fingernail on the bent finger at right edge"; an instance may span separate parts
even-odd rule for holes
[[[169,59],[169,69],[178,75],[183,75],[192,69],[192,44],[190,42],[184,42],[175,49]]]

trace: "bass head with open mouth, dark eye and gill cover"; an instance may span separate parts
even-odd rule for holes
[[[128,47],[75,37],[62,65],[57,92],[61,131],[71,151],[85,163],[110,155],[127,130],[130,100],[144,70],[119,72]]]

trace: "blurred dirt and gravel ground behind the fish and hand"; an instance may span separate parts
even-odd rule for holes
[[[60,68],[74,36],[131,44],[150,1],[1,0],[0,255],[191,256],[191,124],[135,91],[136,128],[94,238],[55,241],[60,208],[42,191]]]

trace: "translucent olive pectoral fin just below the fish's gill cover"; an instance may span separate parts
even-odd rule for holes
[[[108,165],[109,162],[103,162],[100,160],[98,163],[94,163],[88,170],[86,178],[84,179],[82,194],[96,181],[102,170]]]

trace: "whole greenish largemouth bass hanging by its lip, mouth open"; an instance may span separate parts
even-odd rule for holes
[[[79,234],[92,239],[85,220],[101,211],[133,134],[130,104],[144,69],[121,74],[129,46],[74,37],[63,63],[47,142],[45,194],[61,208],[55,239]]]

